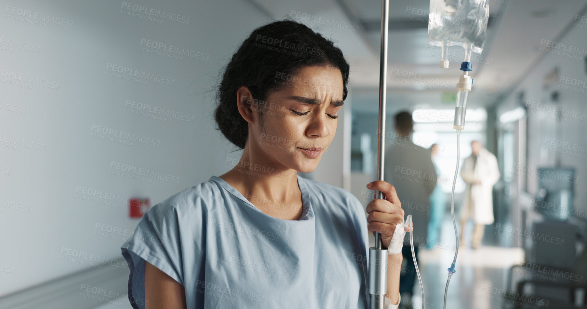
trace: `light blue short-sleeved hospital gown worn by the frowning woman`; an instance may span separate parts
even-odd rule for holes
[[[367,308],[365,209],[297,178],[299,220],[261,212],[218,176],[154,205],[121,247],[133,308],[145,307],[145,261],[184,286],[187,308]]]

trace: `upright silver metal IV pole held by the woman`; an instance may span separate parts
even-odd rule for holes
[[[377,133],[377,180],[383,180],[385,157],[385,97],[387,88],[387,28],[389,27],[389,0],[382,0],[381,10],[381,59],[379,62],[379,128]],[[385,199],[383,192],[375,192],[376,199]],[[370,309],[384,309],[387,293],[387,249],[383,249],[380,233],[373,232],[375,247],[369,248]]]

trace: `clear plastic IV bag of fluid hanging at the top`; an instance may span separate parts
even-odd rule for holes
[[[441,66],[446,60],[448,67],[448,46],[463,46],[469,62],[471,52],[483,51],[488,18],[488,0],[430,0],[428,40],[442,47]]]

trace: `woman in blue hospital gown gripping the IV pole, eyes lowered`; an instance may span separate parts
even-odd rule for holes
[[[368,307],[367,237],[380,232],[389,246],[403,222],[396,192],[367,185],[387,198],[366,216],[348,191],[297,175],[340,155],[326,148],[348,76],[341,50],[301,23],[268,23],[245,39],[215,113],[242,157],[141,218],[122,246],[133,308]],[[385,308],[399,303],[401,264],[389,256]]]

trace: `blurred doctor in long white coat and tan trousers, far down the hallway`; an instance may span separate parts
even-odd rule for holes
[[[464,245],[464,227],[469,219],[475,222],[473,232],[473,249],[481,245],[485,225],[492,224],[493,185],[500,179],[497,158],[480,141],[471,142],[473,153],[465,159],[461,168],[461,177],[467,184],[464,205],[461,209],[461,245]]]

